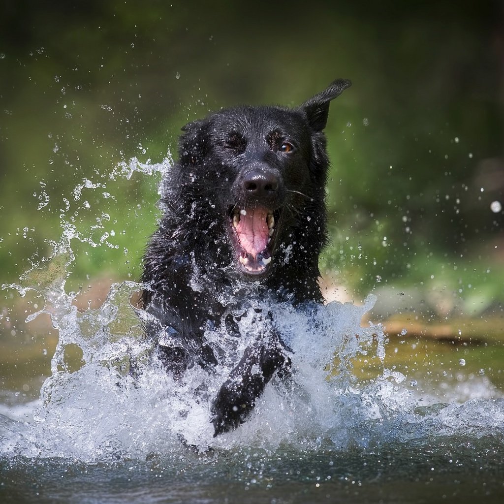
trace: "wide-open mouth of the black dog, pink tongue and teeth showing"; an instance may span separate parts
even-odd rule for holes
[[[264,207],[233,207],[229,212],[231,242],[238,267],[246,275],[262,276],[268,271],[278,217],[278,212]]]

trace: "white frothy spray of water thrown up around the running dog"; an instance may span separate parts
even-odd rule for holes
[[[141,164],[133,159],[118,166],[111,179],[134,172],[163,173],[170,162]],[[74,197],[95,185],[84,180]],[[29,416],[23,411],[20,421],[15,408],[0,415],[4,456],[110,461],[244,447],[274,451],[289,446],[303,453],[322,447],[349,450],[422,443],[457,433],[502,439],[504,403],[498,394],[491,400],[440,404],[415,395],[402,373],[384,365],[383,328],[361,322],[374,304],[372,296],[363,306],[336,301],[268,306],[293,351],[292,377],[287,382],[273,379],[250,418],[214,438],[210,404],[229,369],[223,365],[209,374],[195,366],[175,383],[153,363],[152,343],[142,328],[147,314],[130,302],[142,289],[139,283],[114,284],[102,306],[78,310],[76,294],[65,288],[75,260],[72,242],[101,246],[107,237],[92,240],[65,215],[61,227],[61,240],[51,243],[53,253],[43,267],[34,267],[19,284],[3,286],[21,296],[30,290],[42,296],[43,307],[29,319],[48,313],[59,335],[51,376],[40,400],[30,405]],[[240,338],[212,327],[206,339],[230,356],[239,355],[247,338],[261,330],[251,310],[239,322]],[[373,376],[366,380],[354,373],[362,356],[374,362]]]

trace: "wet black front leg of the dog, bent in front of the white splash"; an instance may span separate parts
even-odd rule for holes
[[[275,371],[288,373],[290,365],[279,341],[274,345],[261,341],[246,348],[212,405],[214,437],[243,423]]]

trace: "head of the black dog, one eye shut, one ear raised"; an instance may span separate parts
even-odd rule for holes
[[[212,231],[210,241],[227,241],[220,254],[240,276],[261,279],[289,261],[318,262],[329,165],[323,130],[330,101],[349,86],[337,80],[296,108],[228,108],[182,128],[179,200],[199,217],[201,232],[219,223],[222,236]]]

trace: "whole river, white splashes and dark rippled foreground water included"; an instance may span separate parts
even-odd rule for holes
[[[0,404],[1,502],[504,498],[504,396],[477,362],[467,370],[478,350],[464,358],[450,350],[453,366],[446,355],[431,362],[438,347],[362,323],[372,296],[362,306],[270,306],[294,352],[292,380],[273,380],[246,423],[214,438],[210,403],[226,369],[195,367],[175,384],[151,365],[143,314],[130,303],[136,282],[113,285],[99,308],[78,309],[66,289],[72,233],[64,226],[52,244],[48,271],[61,274],[4,286],[44,298],[40,313],[58,343],[40,398]],[[255,324],[250,313],[241,339],[218,329],[207,339],[239,353]],[[424,365],[392,363],[398,352],[420,360],[419,348]]]

